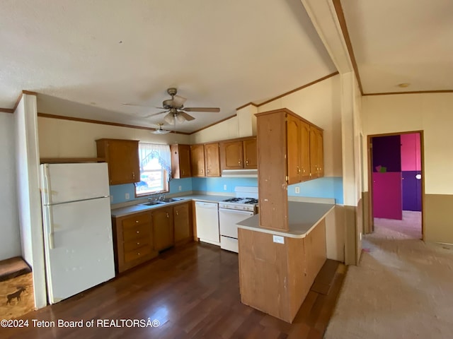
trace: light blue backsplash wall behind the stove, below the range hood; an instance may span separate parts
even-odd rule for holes
[[[192,178],[193,191],[234,193],[236,186],[256,187],[258,178]]]

